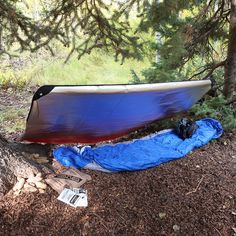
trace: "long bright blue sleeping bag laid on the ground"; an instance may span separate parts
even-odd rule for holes
[[[103,171],[143,170],[185,156],[223,133],[219,121],[207,118],[196,122],[194,135],[182,140],[173,130],[158,132],[127,143],[106,144],[100,147],[59,147],[54,157],[66,167],[92,168]]]

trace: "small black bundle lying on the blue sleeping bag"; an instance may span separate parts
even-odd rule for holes
[[[192,122],[187,118],[183,118],[177,123],[175,132],[180,138],[186,139],[191,138],[197,128],[198,126],[195,122]]]

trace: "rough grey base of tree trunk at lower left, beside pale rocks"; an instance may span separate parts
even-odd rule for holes
[[[27,178],[43,171],[41,165],[27,159],[23,153],[46,155],[48,150],[46,145],[11,143],[0,135],[0,198],[14,185],[17,176]]]

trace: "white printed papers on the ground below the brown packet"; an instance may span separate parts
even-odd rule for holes
[[[88,206],[87,190],[81,188],[65,188],[57,199],[73,207]]]

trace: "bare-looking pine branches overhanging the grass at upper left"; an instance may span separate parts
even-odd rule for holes
[[[74,52],[80,58],[101,47],[112,49],[122,60],[141,55],[142,45],[138,37],[129,33],[128,20],[124,20],[139,2],[141,0],[119,2],[120,11],[117,11],[118,3],[113,10],[105,0],[49,1],[50,7],[43,7],[41,18],[36,21],[17,8],[17,1],[0,0],[0,28],[3,29],[0,53],[10,52],[16,42],[20,51],[50,49],[50,43],[56,40],[71,47],[66,61]]]

